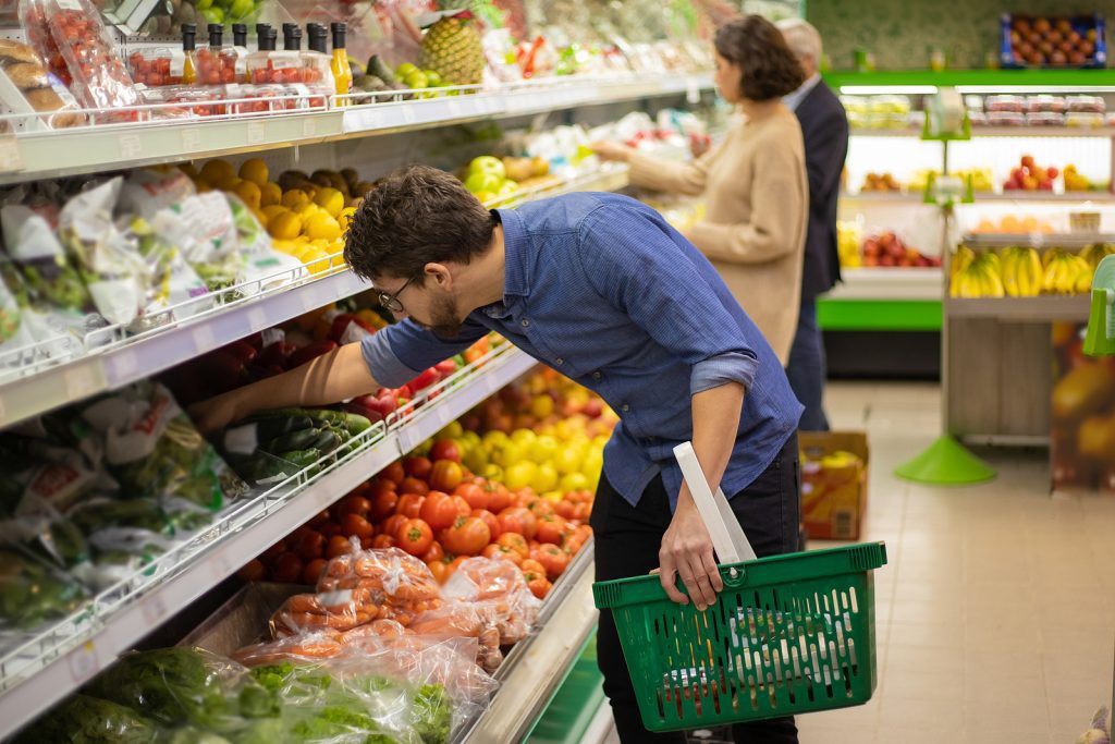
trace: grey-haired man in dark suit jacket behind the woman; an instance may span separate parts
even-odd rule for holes
[[[803,432],[828,431],[823,406],[825,347],[817,326],[817,297],[840,281],[836,253],[836,199],[847,155],[847,116],[835,94],[821,79],[821,35],[799,18],[778,23],[789,48],[805,68],[805,83],[784,98],[797,115],[805,139],[805,168],[809,177],[809,224],[802,270],[802,309],[789,350],[786,375],[805,406]]]

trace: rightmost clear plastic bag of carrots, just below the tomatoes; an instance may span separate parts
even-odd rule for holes
[[[486,625],[500,630],[500,642],[525,638],[539,619],[542,602],[531,593],[526,579],[511,561],[469,558],[442,588],[446,601],[463,602]]]

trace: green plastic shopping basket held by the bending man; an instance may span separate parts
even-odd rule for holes
[[[883,543],[720,567],[704,612],[657,576],[601,581],[648,731],[679,731],[861,705],[875,689],[875,590]]]

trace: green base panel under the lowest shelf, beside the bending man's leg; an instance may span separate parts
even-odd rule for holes
[[[597,634],[584,641],[565,680],[534,722],[524,744],[578,744],[604,700],[604,678],[597,667]]]

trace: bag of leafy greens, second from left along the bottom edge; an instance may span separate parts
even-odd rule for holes
[[[186,647],[128,654],[86,692],[163,725],[192,725],[220,734],[246,728],[251,719],[277,718],[282,704],[243,666]]]

